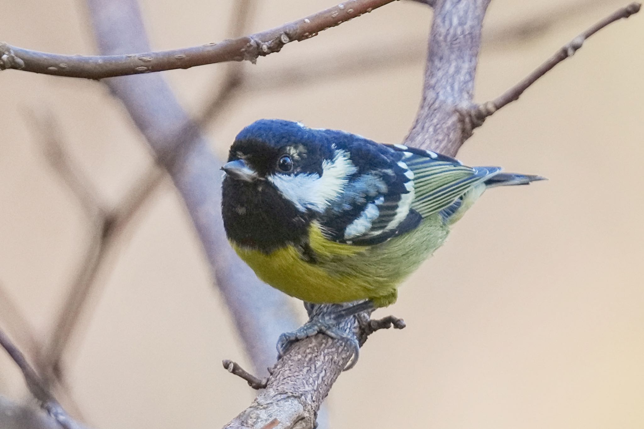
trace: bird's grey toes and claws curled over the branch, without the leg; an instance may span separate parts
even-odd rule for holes
[[[344,370],[349,370],[355,366],[360,355],[360,344],[355,336],[347,335],[343,330],[341,330],[337,320],[333,318],[315,318],[308,321],[294,332],[284,332],[281,334],[277,343],[278,358],[284,356],[293,343],[296,343],[301,339],[312,337],[316,334],[325,334],[330,338],[344,341],[346,346],[350,348],[352,352],[351,359],[346,364]]]

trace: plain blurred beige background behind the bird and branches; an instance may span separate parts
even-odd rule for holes
[[[493,1],[476,99],[496,97],[625,5]],[[329,6],[142,0],[156,50],[272,28]],[[4,0],[3,16],[0,39],[10,44],[96,52],[82,2]],[[263,117],[400,142],[419,104],[430,17],[426,5],[396,2],[256,65],[164,77],[187,111],[206,115],[222,158],[236,133]],[[643,19],[601,30],[475,131],[459,153],[464,163],[550,180],[487,193],[395,306],[376,313],[408,327],[366,343],[328,398],[329,427],[644,426]],[[231,68],[243,83],[213,109]],[[8,71],[0,88],[0,326],[35,360],[87,262],[96,231],[88,201],[121,204],[152,158],[102,84]],[[61,162],[52,165],[52,144],[91,198],[79,200],[57,171]],[[104,429],[219,427],[245,408],[254,391],[220,362],[249,361],[169,180],[107,257],[62,350],[64,405]],[[301,304],[292,305],[303,321]],[[0,394],[29,397],[4,352]]]

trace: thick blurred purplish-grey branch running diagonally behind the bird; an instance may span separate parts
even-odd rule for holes
[[[88,6],[100,52],[149,48],[135,0],[88,0]],[[171,175],[255,372],[265,372],[274,363],[276,338],[292,329],[296,319],[288,298],[261,283],[227,242],[220,214],[222,164],[211,152],[211,143],[160,75],[119,77],[106,84]]]

